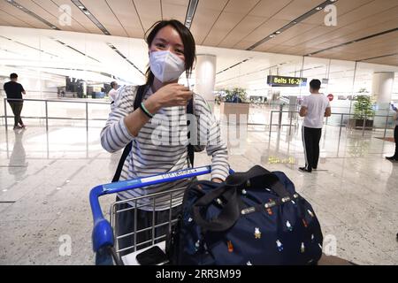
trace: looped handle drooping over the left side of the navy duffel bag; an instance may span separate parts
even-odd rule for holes
[[[226,200],[226,205],[223,207],[217,218],[210,220],[204,219],[201,215],[201,209],[207,209],[210,203],[213,203],[219,196],[223,196]],[[239,218],[239,200],[236,187],[228,185],[218,187],[203,195],[193,205],[193,214],[195,223],[201,226],[205,231],[221,232],[226,231],[232,227]]]

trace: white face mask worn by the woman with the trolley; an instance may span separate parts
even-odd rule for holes
[[[178,80],[185,71],[185,62],[169,50],[150,52],[149,66],[150,71],[161,82]]]

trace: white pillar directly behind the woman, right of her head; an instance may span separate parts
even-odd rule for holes
[[[216,83],[217,57],[210,54],[198,54],[195,68],[195,93],[201,95],[214,107],[214,86]]]

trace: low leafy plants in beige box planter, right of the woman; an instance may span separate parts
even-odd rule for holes
[[[230,116],[234,115],[236,117],[236,123],[240,124],[241,116],[245,115],[246,123],[249,119],[249,103],[247,102],[248,97],[246,94],[246,89],[244,88],[233,88],[232,90],[224,90],[226,94],[223,97],[223,102],[221,103],[220,111],[221,114],[226,115],[228,121]]]

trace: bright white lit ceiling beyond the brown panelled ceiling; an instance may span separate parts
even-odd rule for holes
[[[106,74],[114,75],[122,83],[141,84],[144,81],[142,73],[108,45],[111,43],[115,46],[145,73],[148,65],[148,49],[145,42],[140,39],[20,27],[0,27],[0,34],[0,65],[2,65],[0,75],[8,75],[10,70],[18,73],[28,68],[27,71],[34,70],[42,75],[50,73],[78,76],[93,81],[113,80]],[[64,42],[74,50],[60,42]],[[268,88],[266,85],[268,74],[300,76],[302,69],[302,57],[299,56],[204,46],[197,46],[197,54],[217,56],[217,89],[239,86],[251,91],[264,90]],[[247,62],[219,73],[248,58]],[[329,64],[331,64],[330,73]],[[344,83],[347,88],[352,88],[354,69],[355,63],[350,61],[305,57],[302,76],[322,79],[327,78],[329,73],[331,84]],[[358,63],[357,84],[369,84],[373,72],[398,72],[398,67]],[[195,71],[193,77],[191,83],[195,81]]]

